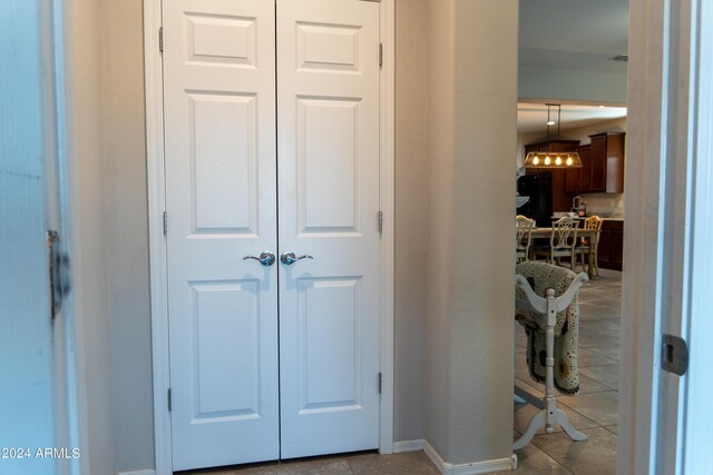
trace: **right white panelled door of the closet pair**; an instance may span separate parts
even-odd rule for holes
[[[379,447],[379,4],[277,1],[281,455]]]

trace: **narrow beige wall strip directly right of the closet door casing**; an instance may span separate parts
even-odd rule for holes
[[[426,0],[397,0],[394,441],[423,437],[428,198]]]

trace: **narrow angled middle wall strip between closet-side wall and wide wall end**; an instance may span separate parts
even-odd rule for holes
[[[429,165],[427,319],[423,437],[442,456],[449,447],[450,290],[452,267],[453,154],[453,12],[452,1],[428,0],[429,21]]]

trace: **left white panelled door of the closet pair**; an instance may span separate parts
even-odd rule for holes
[[[279,457],[274,3],[164,4],[173,468]]]

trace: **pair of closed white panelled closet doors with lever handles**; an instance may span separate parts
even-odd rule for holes
[[[377,448],[379,4],[163,14],[174,469]]]

